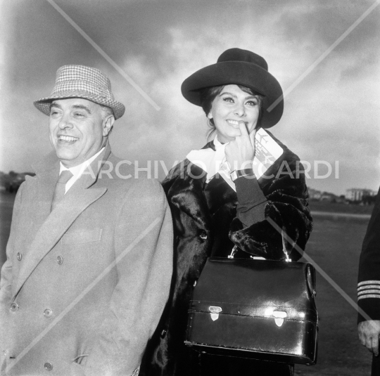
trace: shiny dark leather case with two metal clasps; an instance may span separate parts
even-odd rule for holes
[[[312,365],[315,268],[210,257],[194,288],[185,344],[207,354]]]

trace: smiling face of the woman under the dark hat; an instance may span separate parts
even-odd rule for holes
[[[259,115],[257,96],[246,93],[237,85],[226,85],[215,97],[208,118],[214,121],[218,140],[227,143],[240,136],[239,122],[244,122],[251,133],[258,124]]]

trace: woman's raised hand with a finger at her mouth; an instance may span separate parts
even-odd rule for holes
[[[257,129],[248,134],[246,124],[239,122],[240,136],[226,146],[226,159],[231,171],[251,169],[255,157],[255,136]]]

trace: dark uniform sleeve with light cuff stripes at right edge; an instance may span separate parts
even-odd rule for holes
[[[357,304],[372,320],[380,320],[380,190],[360,254]],[[365,320],[359,313],[357,322]]]

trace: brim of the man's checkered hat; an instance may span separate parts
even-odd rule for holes
[[[119,119],[120,117],[122,117],[122,115],[124,115],[125,112],[125,106],[122,103],[118,101],[113,101],[108,98],[96,96],[93,93],[89,93],[88,91],[60,91],[58,93],[53,94],[52,96],[41,98],[35,101],[33,104],[38,110],[43,112],[45,115],[49,116],[51,102],[55,101],[56,99],[68,98],[83,98],[87,99],[88,101],[97,103],[98,105],[104,105],[106,107],[109,107],[113,110],[113,115],[115,116],[115,119]]]

